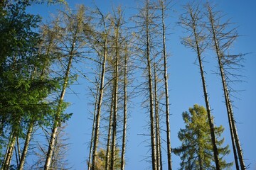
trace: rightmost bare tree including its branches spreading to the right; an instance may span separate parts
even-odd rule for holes
[[[209,20],[209,31],[210,38],[212,39],[213,50],[216,53],[218,59],[218,68],[220,72],[221,81],[223,84],[223,93],[225,97],[225,106],[228,113],[228,123],[230,126],[230,136],[233,145],[233,154],[235,157],[236,169],[239,169],[238,158],[240,162],[240,167],[242,170],[246,169],[245,162],[242,156],[242,148],[240,146],[240,140],[238,138],[238,130],[235,125],[235,119],[233,115],[233,105],[230,101],[230,86],[228,82],[234,82],[230,77],[239,77],[238,74],[232,73],[230,70],[238,70],[238,67],[242,67],[240,64],[243,55],[229,55],[230,46],[233,44],[234,40],[238,38],[238,33],[236,29],[227,30],[230,25],[229,21],[225,23],[221,22],[219,12],[214,12],[210,4],[206,4],[208,10],[207,16]],[[234,67],[235,66],[235,67]],[[237,79],[240,81],[240,79]],[[237,156],[238,152],[238,156]]]

